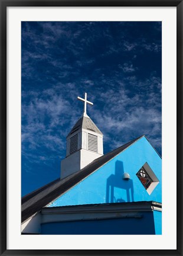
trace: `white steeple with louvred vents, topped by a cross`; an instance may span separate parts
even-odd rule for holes
[[[86,114],[87,104],[93,105],[93,103],[87,100],[86,92],[84,99],[77,98],[84,101],[84,111],[67,135],[66,158],[61,161],[61,179],[80,171],[103,155],[103,134]]]

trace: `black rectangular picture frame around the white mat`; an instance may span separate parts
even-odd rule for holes
[[[6,249],[6,8],[7,7],[177,7],[177,249],[58,250]],[[1,17],[1,148],[0,249],[1,255],[183,255],[182,251],[182,11],[180,0],[0,0]],[[175,135],[172,135],[175,136]],[[171,201],[169,202],[171,204]],[[151,243],[151,240],[149,241]]]

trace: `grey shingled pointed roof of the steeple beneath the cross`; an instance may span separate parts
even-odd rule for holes
[[[96,126],[96,124],[93,123],[92,119],[90,119],[89,116],[83,115],[71,129],[70,133],[68,133],[67,137],[80,129],[90,130],[92,132],[96,132],[99,133],[100,135],[103,135],[103,133],[100,132],[99,128]]]

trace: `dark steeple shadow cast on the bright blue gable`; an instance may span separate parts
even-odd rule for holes
[[[115,163],[115,174],[107,178],[106,185],[106,203],[122,203],[126,199],[128,202],[134,201],[133,198],[133,180],[123,180],[124,168],[123,162],[117,160]],[[121,188],[115,196],[115,188]],[[125,194],[126,190],[126,194]],[[119,194],[120,191],[120,194]]]

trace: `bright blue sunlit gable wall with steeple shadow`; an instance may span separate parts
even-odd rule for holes
[[[150,196],[136,176],[145,162],[160,181]],[[161,202],[161,168],[161,157],[142,137],[48,207],[128,201]],[[130,174],[130,180],[122,180],[123,172]]]

